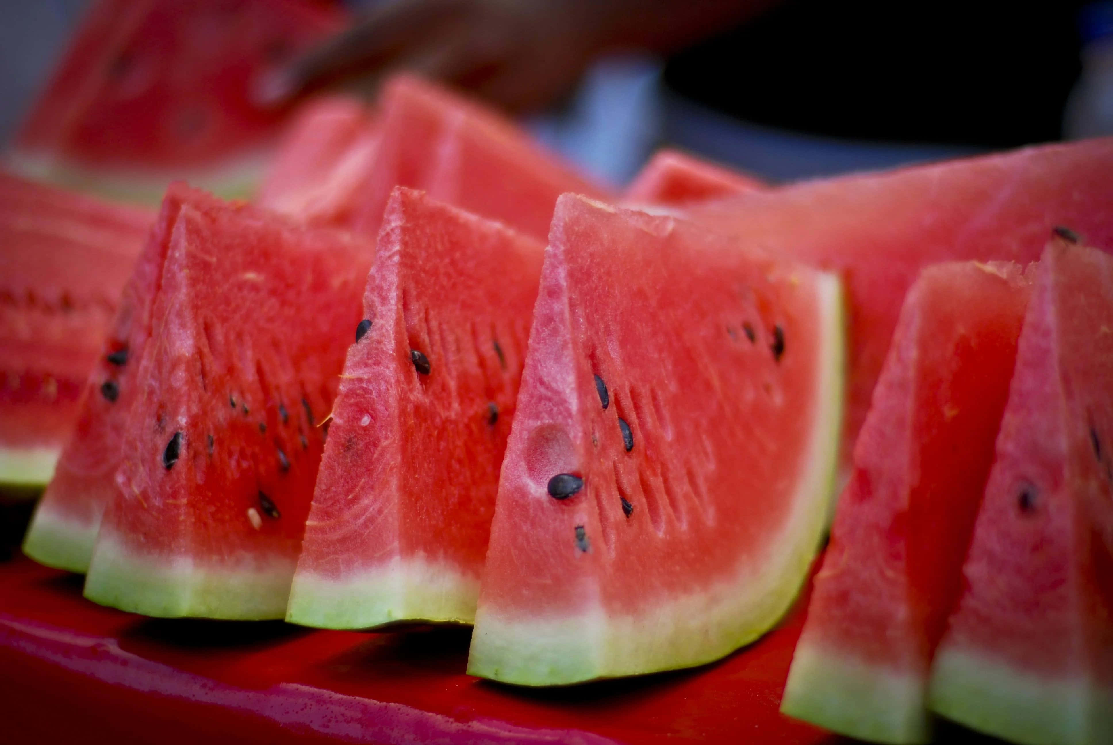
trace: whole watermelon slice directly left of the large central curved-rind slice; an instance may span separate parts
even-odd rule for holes
[[[287,620],[473,620],[543,255],[395,189]]]

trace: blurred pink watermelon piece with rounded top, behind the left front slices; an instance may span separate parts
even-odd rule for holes
[[[308,101],[279,143],[255,203],[313,225],[347,225],[377,145],[375,119],[358,99]]]

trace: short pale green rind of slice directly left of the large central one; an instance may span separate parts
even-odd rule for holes
[[[456,567],[422,557],[395,558],[343,581],[297,574],[286,620],[336,629],[372,629],[400,621],[472,624],[479,595],[479,578]]]

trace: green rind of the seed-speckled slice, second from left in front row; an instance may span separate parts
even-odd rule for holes
[[[129,553],[101,531],[89,562],[85,597],[157,618],[284,618],[294,562],[286,557],[250,560],[255,566],[200,567],[185,557]]]

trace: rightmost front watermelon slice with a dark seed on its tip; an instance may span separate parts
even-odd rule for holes
[[[1017,743],[1113,742],[1113,258],[1044,253],[930,705]]]

